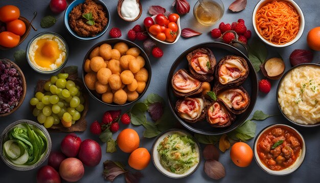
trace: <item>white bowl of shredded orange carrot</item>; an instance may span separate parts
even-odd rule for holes
[[[260,39],[272,47],[293,44],[305,28],[303,12],[292,0],[261,0],[254,9],[252,21]]]

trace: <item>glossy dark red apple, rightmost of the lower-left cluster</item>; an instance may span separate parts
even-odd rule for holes
[[[101,147],[96,141],[86,139],[81,143],[78,157],[86,166],[97,166],[101,161]]]

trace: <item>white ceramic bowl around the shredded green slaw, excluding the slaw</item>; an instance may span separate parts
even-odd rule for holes
[[[195,172],[198,169],[198,167],[200,166],[202,153],[201,153],[200,145],[199,145],[198,141],[195,138],[193,138],[193,136],[192,136],[193,141],[196,144],[195,145],[195,150],[199,154],[198,163],[195,164],[193,167],[191,167],[187,172],[185,172],[183,174],[176,174],[176,173],[172,173],[172,172],[166,170],[160,163],[160,154],[157,151],[157,147],[164,140],[164,138],[166,136],[172,135],[172,134],[176,134],[176,133],[179,133],[181,135],[190,135],[190,136],[192,136],[187,131],[181,130],[181,129],[170,129],[168,131],[165,131],[165,132],[159,134],[157,136],[157,138],[154,140],[154,143],[152,145],[152,150],[151,150],[152,162],[153,162],[155,168],[157,168],[159,172],[161,172],[162,174],[166,175],[167,177],[170,177],[170,178],[184,178],[184,177],[187,177],[187,176],[191,175],[193,172]]]

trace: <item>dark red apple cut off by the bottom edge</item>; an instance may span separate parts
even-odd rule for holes
[[[41,167],[37,172],[37,183],[60,183],[59,173],[49,165]]]

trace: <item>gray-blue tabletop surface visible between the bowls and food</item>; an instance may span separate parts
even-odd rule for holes
[[[70,55],[68,58],[68,61],[66,65],[78,65],[78,71],[81,73],[81,65],[83,61],[83,57],[85,56],[86,52],[97,42],[106,40],[109,38],[108,32],[105,33],[102,37],[89,41],[89,42],[82,42],[79,40],[76,40],[74,37],[72,37],[70,34],[67,33],[66,29],[63,25],[63,13],[55,15],[58,19],[56,24],[48,29],[42,29],[40,27],[40,20],[45,15],[51,15],[51,11],[49,9],[49,0],[11,0],[11,1],[0,1],[0,7],[8,4],[16,5],[20,8],[21,15],[27,17],[29,20],[33,17],[33,12],[36,10],[38,12],[38,15],[33,23],[33,25],[38,29],[38,31],[31,30],[28,38],[21,43],[17,48],[11,49],[9,51],[0,51],[0,57],[8,58],[10,60],[13,59],[13,54],[16,50],[25,50],[28,41],[35,36],[38,33],[44,32],[44,31],[52,31],[56,32],[60,35],[62,35],[69,47],[70,47]],[[70,1],[68,1],[70,2]],[[129,29],[132,29],[134,25],[136,24],[143,24],[143,20],[147,15],[147,11],[149,6],[151,5],[161,5],[164,8],[166,8],[169,11],[175,12],[174,9],[171,9],[171,4],[173,0],[168,1],[147,1],[147,0],[141,0],[142,6],[143,6],[143,13],[140,19],[138,19],[135,22],[129,23],[125,22],[117,14],[117,0],[103,0],[105,4],[108,6],[111,18],[110,18],[110,27],[109,30],[112,27],[119,27],[122,30],[122,37],[121,38],[127,38],[126,34]],[[150,62],[152,65],[152,79],[150,86],[146,92],[147,96],[151,93],[156,93],[161,95],[163,98],[166,97],[166,82],[167,82],[167,74],[169,73],[170,67],[174,60],[190,48],[192,45],[201,43],[201,42],[207,42],[207,41],[213,41],[213,39],[210,37],[209,31],[218,28],[218,25],[221,21],[226,23],[231,23],[233,21],[237,21],[238,18],[243,18],[245,20],[245,25],[248,29],[252,30],[253,37],[257,37],[257,35],[253,31],[252,26],[252,12],[257,4],[258,0],[254,1],[248,1],[247,6],[245,10],[239,12],[239,13],[232,13],[228,11],[228,6],[233,2],[233,0],[223,0],[224,3],[224,15],[222,19],[218,22],[217,25],[214,25],[212,27],[204,27],[200,24],[198,24],[193,16],[192,8],[194,4],[196,3],[195,0],[189,0],[188,1],[191,6],[191,11],[185,15],[181,16],[181,27],[182,28],[193,28],[199,32],[202,32],[203,34],[198,37],[194,38],[180,38],[177,43],[173,45],[164,45],[164,44],[158,44],[159,47],[161,47],[164,51],[164,56],[160,59],[155,59],[153,57],[150,57]],[[295,49],[308,49],[306,37],[307,33],[311,28],[319,26],[320,21],[318,20],[320,13],[318,11],[319,4],[317,0],[310,0],[310,1],[303,1],[303,0],[296,0],[296,3],[301,7],[304,15],[305,15],[305,30],[304,33],[299,41],[294,43],[293,45],[287,47],[287,48],[281,48],[281,49],[273,49],[271,47],[267,47],[269,51],[269,56],[279,52],[284,58],[284,61],[286,63],[286,70],[288,70],[291,66],[289,63],[289,55],[290,53]],[[136,43],[138,41],[135,41]],[[142,46],[141,42],[138,42],[139,45]],[[313,62],[319,61],[320,53],[314,51],[314,59]],[[24,103],[20,106],[20,108],[12,115],[4,118],[0,118],[0,131],[3,131],[6,126],[8,126],[10,123],[20,120],[20,119],[29,119],[29,120],[36,120],[32,113],[29,110],[29,100],[34,96],[34,88],[36,85],[36,81],[38,79],[43,78],[49,78],[49,75],[42,75],[39,73],[36,73],[32,70],[32,68],[27,63],[20,63],[19,64],[21,70],[24,72],[27,80],[27,95]],[[258,73],[258,79],[262,79],[263,76],[260,73]],[[271,81],[271,91],[269,94],[264,95],[259,93],[258,99],[255,105],[255,110],[263,110],[265,113],[268,114],[279,114],[280,111],[276,105],[276,89],[277,89],[278,80]],[[123,111],[126,111],[129,107],[122,108]],[[107,107],[103,104],[100,104],[99,102],[95,101],[93,98],[90,98],[90,107],[89,111],[86,116],[86,120],[88,122],[88,126],[94,121],[94,120],[101,120],[102,114],[106,110],[111,110],[115,108]],[[320,155],[319,155],[319,149],[320,149],[320,132],[319,127],[316,128],[302,128],[295,126],[288,121],[281,115],[278,115],[276,117],[269,118],[265,121],[256,122],[257,123],[257,133],[264,128],[267,125],[270,124],[276,124],[276,123],[282,123],[282,124],[288,124],[290,126],[293,126],[294,128],[298,129],[304,136],[307,146],[307,152],[305,161],[303,162],[302,166],[295,171],[294,173],[287,175],[287,176],[272,176],[267,173],[265,173],[255,160],[253,160],[252,164],[246,168],[240,168],[233,164],[231,161],[229,151],[226,151],[225,153],[220,154],[220,162],[225,167],[226,176],[220,180],[213,180],[210,179],[204,172],[203,172],[203,164],[204,161],[201,162],[200,167],[198,170],[193,173],[191,176],[182,178],[182,179],[171,179],[160,172],[157,171],[157,169],[154,167],[152,162],[150,162],[149,166],[142,170],[141,172],[144,174],[144,177],[141,179],[141,182],[318,182],[319,172],[320,172]],[[121,125],[121,124],[120,124]],[[121,125],[120,130],[124,129],[124,125]],[[151,146],[154,139],[146,139],[143,138],[143,130],[144,128],[142,126],[135,127],[135,126],[129,126],[129,128],[133,128],[136,131],[138,131],[140,138],[141,138],[141,147],[145,147],[148,150],[151,150]],[[113,134],[113,139],[115,139],[118,135],[119,131],[116,134]],[[52,149],[53,150],[59,150],[60,148],[60,142],[63,139],[63,137],[66,135],[66,133],[51,133],[51,139],[52,139]],[[102,148],[102,159],[100,165],[89,168],[85,167],[85,174],[83,178],[79,182],[104,182],[102,171],[103,166],[102,163],[106,159],[112,159],[113,161],[121,161],[126,163],[129,154],[121,152],[121,150],[118,150],[116,153],[106,153],[105,148],[106,144],[102,143],[98,136],[94,136],[90,133],[89,128],[85,130],[82,133],[77,133],[81,137],[82,140],[85,139],[94,139],[97,142],[100,143]],[[247,142],[250,147],[253,147],[254,139]],[[203,146],[202,146],[203,147]],[[45,162],[43,165],[46,165],[47,162]],[[1,182],[35,182],[36,181],[36,172],[39,168],[27,171],[27,172],[20,172],[15,171],[10,168],[8,168],[2,161],[0,161],[0,181]],[[115,182],[124,182],[124,176],[119,176],[115,179]]]

